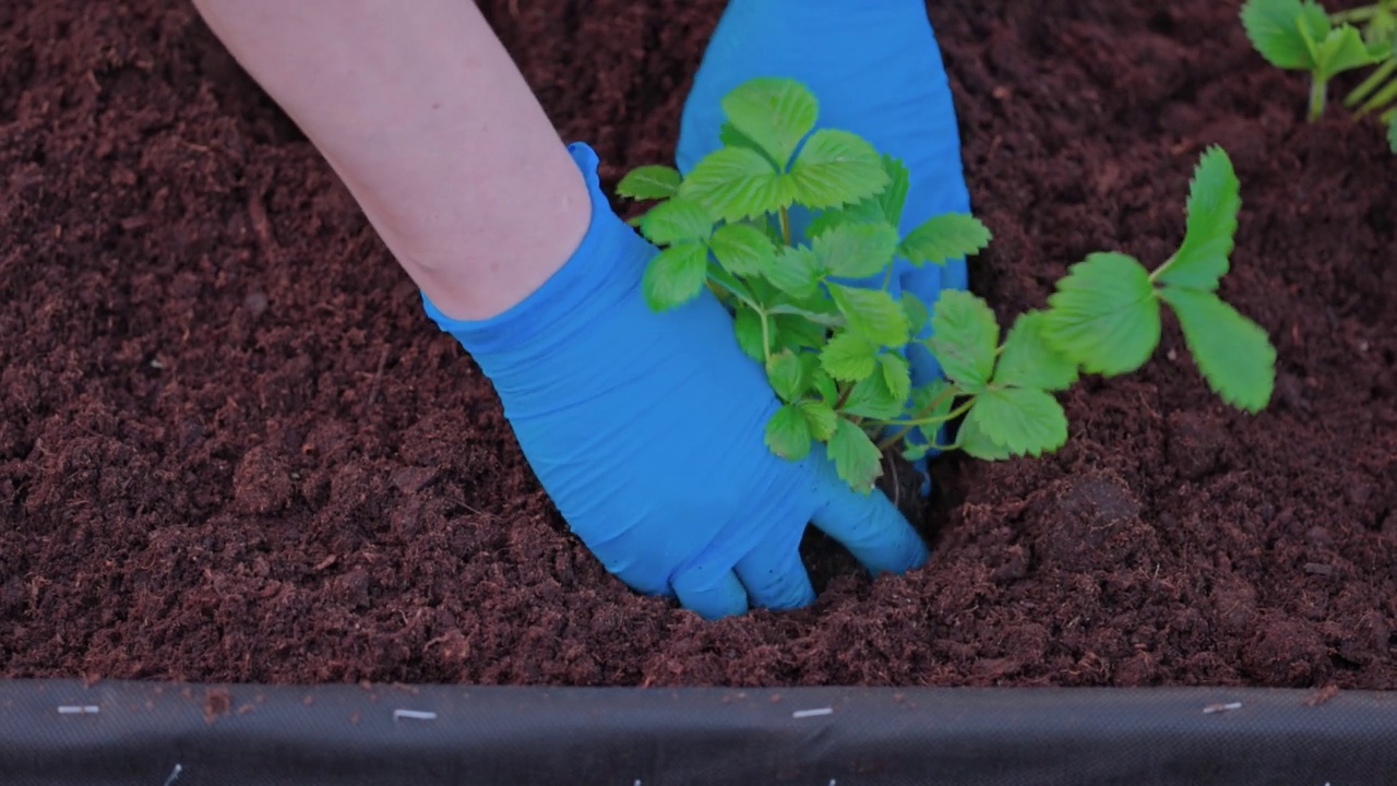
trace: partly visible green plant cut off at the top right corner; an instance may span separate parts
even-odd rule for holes
[[[1310,73],[1310,122],[1323,116],[1336,76],[1376,66],[1344,106],[1355,117],[1379,112],[1397,152],[1397,0],[1333,14],[1313,0],[1248,0],[1242,27],[1268,63]]]

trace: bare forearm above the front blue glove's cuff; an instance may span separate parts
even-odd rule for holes
[[[507,309],[577,248],[587,189],[474,3],[194,4],[451,316]]]

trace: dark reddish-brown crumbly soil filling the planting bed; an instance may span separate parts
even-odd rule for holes
[[[721,0],[493,0],[567,138],[669,159]],[[703,622],[609,578],[316,151],[170,0],[0,4],[0,676],[1397,688],[1397,161],[1217,0],[930,4],[1002,315],[1158,263],[1206,144],[1273,406],[1176,330],[1037,462],[944,460],[932,562]]]

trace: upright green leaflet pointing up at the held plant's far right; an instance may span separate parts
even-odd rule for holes
[[[1239,189],[1227,152],[1221,147],[1210,147],[1199,161],[1189,189],[1183,245],[1160,271],[1160,281],[1190,290],[1217,290],[1232,253],[1236,213],[1242,207]]]

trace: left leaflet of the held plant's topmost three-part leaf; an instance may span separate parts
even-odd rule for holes
[[[771,162],[745,147],[724,147],[703,157],[679,186],[679,196],[728,222],[774,213],[795,199]]]

